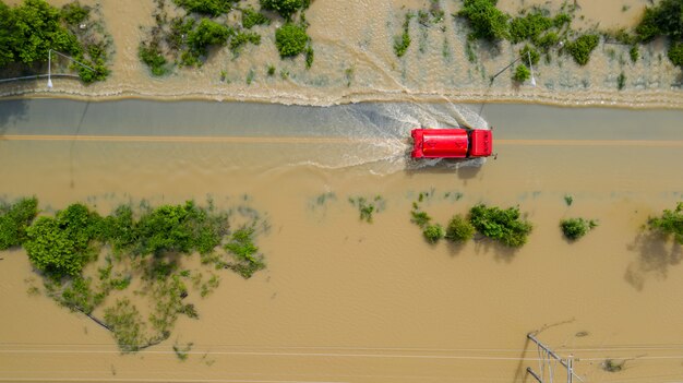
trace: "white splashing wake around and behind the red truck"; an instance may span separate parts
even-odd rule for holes
[[[359,167],[379,175],[424,168],[457,169],[481,166],[486,158],[465,160],[410,158],[412,140],[410,131],[416,128],[489,129],[487,121],[469,107],[454,104],[354,104],[324,108],[321,116],[328,134],[342,136],[352,147],[340,153],[340,157],[325,156],[307,161],[325,168]],[[323,121],[320,121],[323,122]]]

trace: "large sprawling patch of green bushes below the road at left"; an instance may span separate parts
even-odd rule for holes
[[[35,198],[1,204],[2,249],[22,246],[45,294],[112,332],[123,352],[163,343],[179,315],[197,319],[188,286],[207,296],[219,285],[213,271],[250,278],[265,267],[254,242],[266,223],[245,205],[218,211],[211,201],[155,208],[142,202],[100,216],[75,203],[55,216],[37,215]],[[183,270],[183,259],[196,254],[201,270]]]

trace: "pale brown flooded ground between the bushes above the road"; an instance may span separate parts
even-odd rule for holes
[[[10,3],[17,3],[12,0]],[[61,7],[69,0],[50,0]],[[251,1],[256,4],[257,1]],[[106,82],[83,86],[70,79],[0,84],[0,95],[156,97],[249,100],[296,105],[336,105],[357,101],[537,101],[555,105],[619,105],[627,107],[683,107],[681,70],[667,59],[667,44],[656,40],[639,48],[639,60],[628,58],[630,46],[603,41],[586,67],[553,48],[535,65],[537,86],[517,84],[512,70],[494,82],[490,77],[518,58],[523,45],[467,44],[468,28],[453,17],[462,1],[439,1],[442,22],[424,26],[410,22],[411,45],[397,58],[394,38],[402,33],[406,14],[429,10],[427,0],[316,0],[307,11],[315,61],[305,69],[304,58],[280,60],[274,31],[283,23],[256,26],[259,46],[248,46],[236,57],[227,48],[215,49],[201,68],[175,68],[154,77],[140,62],[137,48],[154,24],[153,0],[83,0],[96,7],[113,40],[111,74]],[[178,13],[170,0],[169,14]],[[516,15],[541,5],[558,12],[564,0],[501,0],[499,8]],[[570,1],[577,5],[572,27],[577,33],[602,33],[635,26],[647,0]],[[180,13],[182,13],[180,11]],[[344,15],[344,16],[340,16]],[[572,37],[575,38],[576,36]],[[469,47],[469,48],[468,48]],[[468,53],[471,48],[471,57]],[[268,75],[268,65],[276,74]],[[55,71],[60,73],[60,71]],[[284,74],[286,73],[286,75]],[[623,89],[619,76],[624,75]]]

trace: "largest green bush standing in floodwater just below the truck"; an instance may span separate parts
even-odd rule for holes
[[[502,210],[479,204],[470,208],[469,222],[483,236],[513,248],[524,246],[532,229],[529,222],[520,218],[517,207]]]

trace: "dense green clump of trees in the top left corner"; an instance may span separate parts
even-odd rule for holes
[[[91,20],[91,9],[77,1],[61,10],[45,0],[24,0],[12,8],[0,2],[0,69],[5,76],[43,72],[50,49],[89,67],[69,63],[84,83],[109,74],[110,37],[99,21]],[[58,58],[52,56],[53,61]]]

